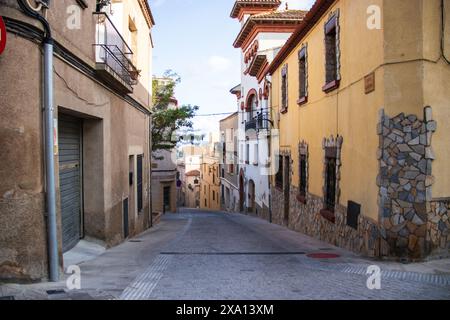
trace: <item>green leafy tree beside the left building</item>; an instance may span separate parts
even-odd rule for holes
[[[182,128],[192,129],[192,118],[198,106],[182,105],[170,108],[175,87],[180,77],[168,70],[163,75],[164,81],[153,79],[153,114],[152,114],[152,151],[172,150],[178,143],[176,131]]]

